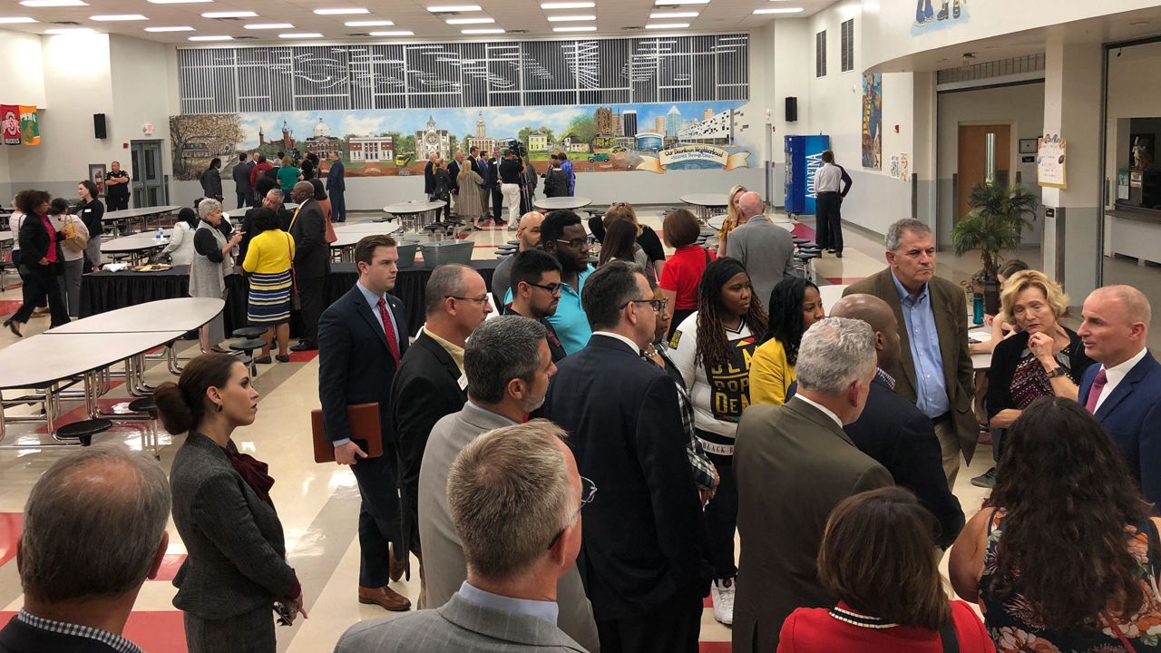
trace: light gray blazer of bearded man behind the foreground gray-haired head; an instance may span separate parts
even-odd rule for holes
[[[427,607],[444,605],[468,577],[463,545],[447,507],[447,476],[455,457],[485,431],[509,426],[504,417],[464,404],[442,417],[432,429],[419,467],[419,540],[424,543],[424,580]],[[600,651],[592,605],[585,596],[576,565],[556,583],[560,626],[589,651]]]

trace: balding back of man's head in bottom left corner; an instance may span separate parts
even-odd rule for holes
[[[52,464],[24,505],[20,579],[46,603],[116,598],[149,574],[170,517],[165,471],[123,444]]]

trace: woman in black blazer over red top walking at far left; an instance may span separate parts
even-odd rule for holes
[[[62,263],[60,251],[64,236],[49,222],[49,202],[52,196],[44,191],[21,191],[16,193],[16,208],[24,214],[20,225],[20,275],[24,280],[24,302],[20,310],[5,321],[3,325],[16,337],[23,337],[20,328],[31,317],[41,297],[49,296],[52,313],[51,326],[68,323],[68,309],[57,282]],[[51,328],[50,326],[50,328]]]

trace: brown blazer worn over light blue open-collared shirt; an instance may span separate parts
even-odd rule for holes
[[[975,385],[972,381],[974,369],[972,356],[967,351],[967,303],[964,289],[946,279],[938,277],[928,282],[931,310],[936,318],[936,333],[939,336],[939,351],[943,353],[944,383],[947,386],[947,400],[951,404],[952,422],[956,426],[956,438],[964,459],[972,461],[975,454],[975,443],[980,439],[980,424],[972,411],[972,397]],[[854,293],[874,295],[890,306],[899,321],[900,356],[899,363],[886,369],[895,378],[895,392],[915,403],[915,361],[911,359],[911,339],[903,321],[903,307],[899,302],[899,290],[892,279],[890,268],[878,272],[858,284],[852,284],[843,296]]]

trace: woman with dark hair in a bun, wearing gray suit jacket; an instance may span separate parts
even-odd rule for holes
[[[188,431],[170,488],[188,552],[173,604],[185,612],[189,652],[274,653],[272,607],[286,623],[307,612],[271,501],[274,479],[230,439],[254,422],[258,390],[238,359],[207,353],[153,397],[167,431]]]

